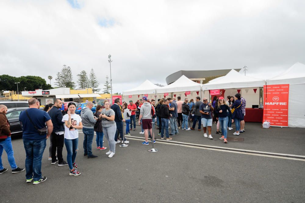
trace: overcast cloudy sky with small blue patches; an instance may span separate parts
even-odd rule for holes
[[[63,65],[74,81],[95,70],[114,92],[179,70],[248,66],[278,75],[305,64],[305,1],[0,1],[0,75],[46,79]],[[264,78],[264,76],[263,76]]]

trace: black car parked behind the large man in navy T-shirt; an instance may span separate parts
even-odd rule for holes
[[[9,120],[9,130],[11,131],[12,135],[22,135],[22,128],[19,122],[19,115],[22,111],[28,108],[12,108],[9,109],[6,113],[7,120]]]

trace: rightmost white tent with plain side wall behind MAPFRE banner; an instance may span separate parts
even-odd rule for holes
[[[267,85],[289,84],[288,127],[305,128],[305,65],[295,63]]]

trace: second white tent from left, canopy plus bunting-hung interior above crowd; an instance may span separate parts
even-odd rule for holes
[[[188,98],[189,100],[194,99],[195,101],[196,96],[201,96],[201,86],[201,84],[188,79],[185,75],[182,75],[175,82],[157,89],[157,99],[162,99],[164,97],[167,98],[173,95],[176,98],[181,96],[181,100]],[[190,94],[185,95],[185,92],[190,92]],[[168,96],[164,96],[164,93],[168,93]]]

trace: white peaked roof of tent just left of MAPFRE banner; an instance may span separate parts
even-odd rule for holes
[[[209,89],[232,89],[232,88],[250,88],[262,87],[265,81],[263,79],[251,78],[240,74],[232,69],[227,75],[222,76],[221,79],[214,79],[203,84],[203,90]]]

